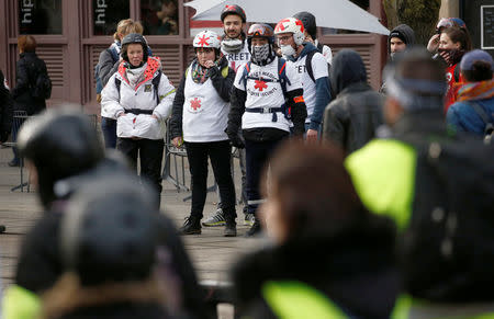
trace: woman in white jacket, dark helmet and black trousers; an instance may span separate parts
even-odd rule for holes
[[[116,119],[116,149],[126,155],[161,193],[165,121],[171,113],[175,88],[161,71],[159,58],[149,57],[137,33],[122,41],[123,60],[102,91],[101,107]],[[159,201],[158,201],[159,203]]]

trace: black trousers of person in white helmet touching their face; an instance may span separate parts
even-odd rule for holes
[[[207,192],[207,158],[213,167],[214,178],[220,189],[225,218],[235,220],[235,185],[232,178],[232,147],[228,140],[209,143],[186,141],[192,179],[191,216],[202,218]]]

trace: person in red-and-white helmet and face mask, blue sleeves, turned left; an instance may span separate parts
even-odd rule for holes
[[[281,53],[294,62],[293,67],[304,88],[306,138],[315,141],[322,129],[324,109],[330,102],[332,94],[326,59],[312,43],[305,41],[304,31],[304,24],[295,18],[283,19],[274,27]]]

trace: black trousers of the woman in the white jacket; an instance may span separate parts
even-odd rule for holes
[[[158,192],[158,200],[161,194],[161,162],[164,151],[162,139],[132,139],[132,138],[117,138],[116,149],[122,151],[132,164],[137,170],[137,155],[141,158],[141,178],[147,179],[147,181]],[[159,203],[160,201],[158,201]]]

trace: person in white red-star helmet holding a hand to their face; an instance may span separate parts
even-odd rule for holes
[[[206,30],[195,36],[193,46],[197,58],[186,70],[173,101],[171,138],[177,147],[186,143],[192,176],[191,213],[180,229],[182,235],[201,233],[200,221],[207,189],[207,158],[220,187],[225,217],[224,236],[237,235],[232,146],[225,133],[235,71],[228,68],[220,43],[221,37],[213,31]]]

